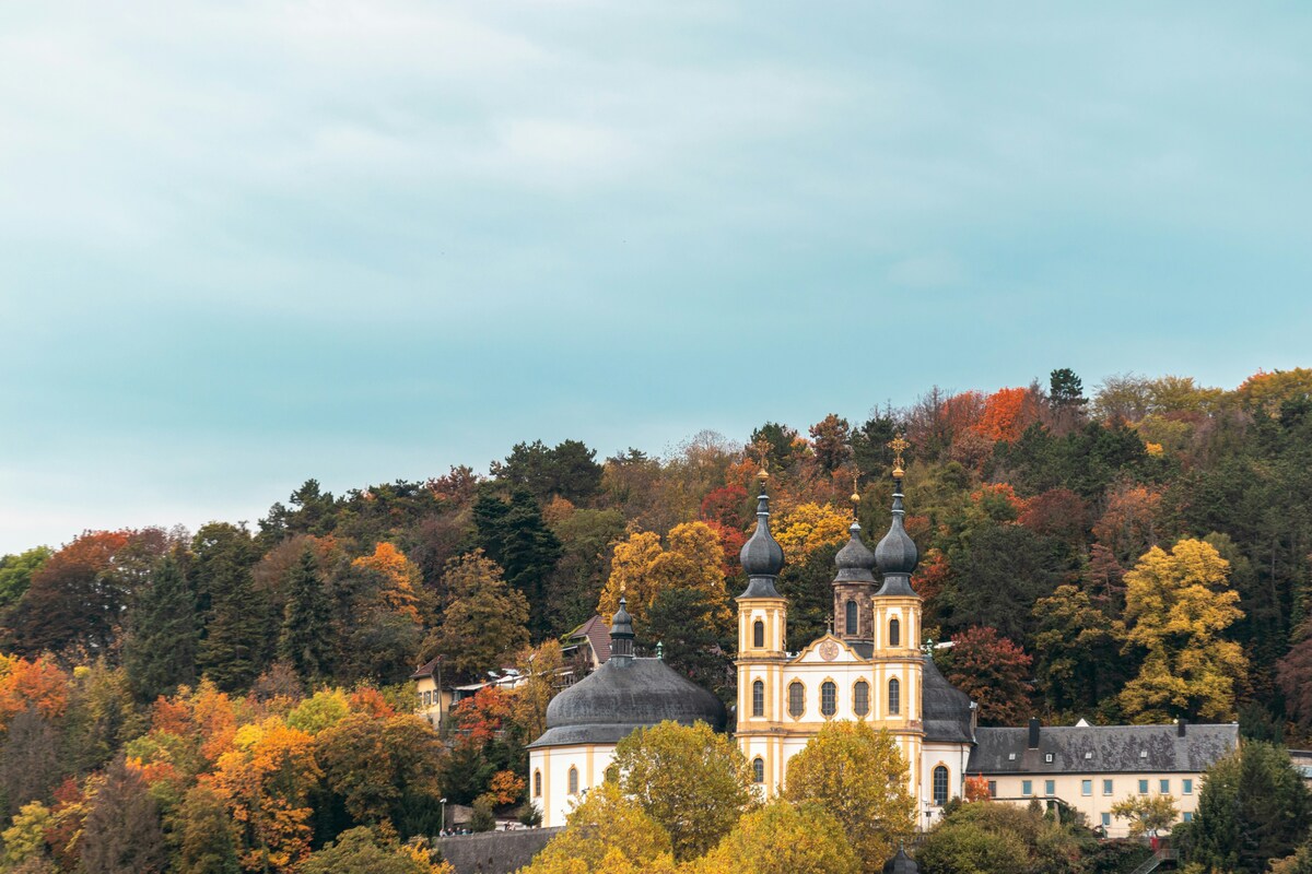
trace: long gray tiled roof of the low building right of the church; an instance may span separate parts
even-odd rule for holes
[[[1190,725],[1182,738],[1174,725],[1043,726],[1038,750],[1027,750],[1027,740],[1029,729],[976,729],[966,769],[972,774],[1197,773],[1239,746],[1239,725]]]

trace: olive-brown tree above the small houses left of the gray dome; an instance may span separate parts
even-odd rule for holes
[[[424,643],[425,659],[440,655],[454,676],[478,676],[529,643],[527,600],[482,550],[453,558],[445,580],[451,601]]]

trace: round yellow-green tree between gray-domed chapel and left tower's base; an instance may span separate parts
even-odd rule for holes
[[[614,764],[619,788],[669,833],[678,861],[715,846],[756,805],[737,744],[705,722],[638,729],[615,746]]]

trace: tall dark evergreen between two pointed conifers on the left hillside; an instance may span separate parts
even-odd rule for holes
[[[244,528],[210,523],[193,541],[198,600],[209,603],[201,671],[220,689],[251,684],[266,662],[264,626],[268,605],[251,569],[258,558]]]

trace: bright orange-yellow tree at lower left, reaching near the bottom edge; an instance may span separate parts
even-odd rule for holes
[[[287,871],[310,853],[310,791],[323,776],[314,738],[277,717],[248,725],[210,778],[239,836],[248,871]]]

